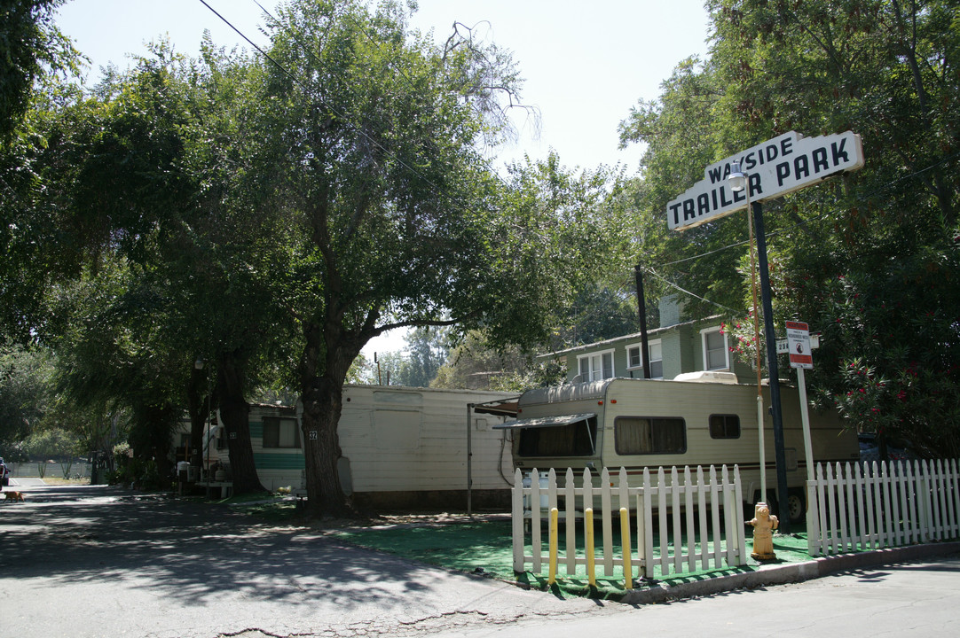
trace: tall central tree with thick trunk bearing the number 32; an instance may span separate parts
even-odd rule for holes
[[[438,48],[395,3],[321,1],[280,10],[273,34],[262,149],[279,177],[264,205],[300,232],[291,311],[304,339],[308,508],[339,514],[342,387],[364,344],[426,325],[545,340],[544,311],[583,272],[564,229],[592,220],[562,201],[541,206],[488,168],[480,145],[519,80],[505,52],[462,26]]]

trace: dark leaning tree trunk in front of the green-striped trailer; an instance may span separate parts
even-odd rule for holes
[[[253,462],[250,406],[244,398],[243,366],[230,353],[217,358],[217,402],[227,436],[233,493],[266,491]]]

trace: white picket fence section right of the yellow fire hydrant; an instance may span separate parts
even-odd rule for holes
[[[960,537],[956,460],[818,464],[806,485],[811,556]]]

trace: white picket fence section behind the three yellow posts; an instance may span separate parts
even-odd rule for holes
[[[653,475],[644,469],[638,484],[630,485],[627,471],[621,467],[616,473],[614,486],[611,473],[607,468],[600,472],[599,480],[589,469],[584,469],[580,485],[575,483],[574,471],[567,468],[564,484],[558,487],[557,476],[551,469],[545,476],[544,485],[540,482],[540,473],[534,469],[529,486],[524,486],[523,476],[516,470],[513,488],[513,542],[514,571],[531,571],[540,574],[544,563],[548,567],[549,550],[543,553],[543,521],[552,508],[558,508],[560,526],[564,528],[565,547],[555,557],[560,565],[565,565],[568,576],[576,574],[578,565],[593,567],[593,548],[588,547],[588,538],[592,538],[592,528],[587,529],[588,508],[596,512],[602,521],[602,539],[596,562],[603,566],[605,577],[613,576],[614,566],[625,567],[626,575],[642,574],[647,578],[654,576],[655,566],[660,566],[661,576],[680,574],[699,570],[734,567],[747,562],[746,541],[744,538],[743,508],[740,489],[740,473],[733,466],[732,475],[724,465],[720,469],[710,466],[676,467],[669,471],[660,467]],[[563,499],[563,503],[560,503]],[[599,500],[600,507],[597,508]],[[558,507],[558,504],[560,507]],[[627,508],[628,512],[622,512]],[[653,512],[659,512],[659,528],[655,534]],[[722,512],[732,515],[721,516]],[[636,547],[636,556],[621,549],[614,555],[613,514],[621,517],[626,514],[628,536],[636,532],[636,540],[622,542],[620,547]],[[530,527],[530,542],[526,541],[524,528]],[[584,531],[584,546],[577,547],[577,526]],[[621,520],[623,525],[623,520]],[[560,531],[558,530],[558,534]],[[622,534],[621,534],[622,535]],[[655,538],[659,537],[659,557],[654,552]],[[529,554],[527,553],[529,551]],[[552,565],[556,573],[558,565]],[[588,578],[593,575],[588,573]],[[628,584],[629,586],[629,584]]]

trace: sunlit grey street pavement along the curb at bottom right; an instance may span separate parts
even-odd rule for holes
[[[636,607],[518,628],[477,627],[450,638],[709,636],[904,638],[960,635],[960,557],[885,566],[800,583]]]

